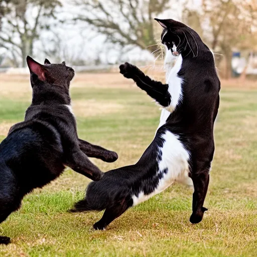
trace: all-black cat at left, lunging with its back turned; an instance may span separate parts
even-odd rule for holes
[[[70,81],[74,70],[62,64],[41,65],[27,57],[33,89],[25,121],[11,127],[0,144],[0,223],[19,209],[23,197],[34,188],[56,179],[65,166],[92,179],[102,172],[87,156],[106,162],[117,154],[78,139],[70,110]],[[0,237],[0,243],[9,243]]]

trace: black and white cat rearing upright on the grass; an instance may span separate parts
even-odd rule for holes
[[[158,20],[167,47],[167,84],[125,63],[120,73],[163,106],[155,138],[132,166],[106,172],[89,184],[72,211],[103,210],[95,229],[105,228],[126,209],[162,192],[174,181],[193,182],[192,223],[202,220],[214,154],[213,125],[219,107],[220,81],[213,54],[199,35],[174,20]],[[176,59],[172,67],[173,59]]]

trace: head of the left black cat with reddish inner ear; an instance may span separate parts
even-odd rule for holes
[[[44,65],[36,62],[30,56],[27,57],[27,63],[31,74],[31,85],[52,85],[69,89],[70,82],[74,77],[74,70],[67,67],[65,62],[61,64],[51,64],[47,59]]]

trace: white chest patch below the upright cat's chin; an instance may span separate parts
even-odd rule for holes
[[[182,101],[182,78],[178,77],[178,72],[181,69],[182,65],[182,55],[179,55],[177,57],[177,61],[172,69],[169,69],[168,65],[167,67],[167,75],[166,75],[166,83],[169,85],[168,91],[171,95],[171,103],[168,107],[166,107],[167,110],[170,112],[173,112],[178,105],[179,101]]]

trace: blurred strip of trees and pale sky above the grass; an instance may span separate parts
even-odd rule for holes
[[[0,0],[0,72],[28,72],[13,69],[26,67],[27,55],[76,71],[159,64],[157,17],[196,30],[221,78],[257,76],[255,0]]]

